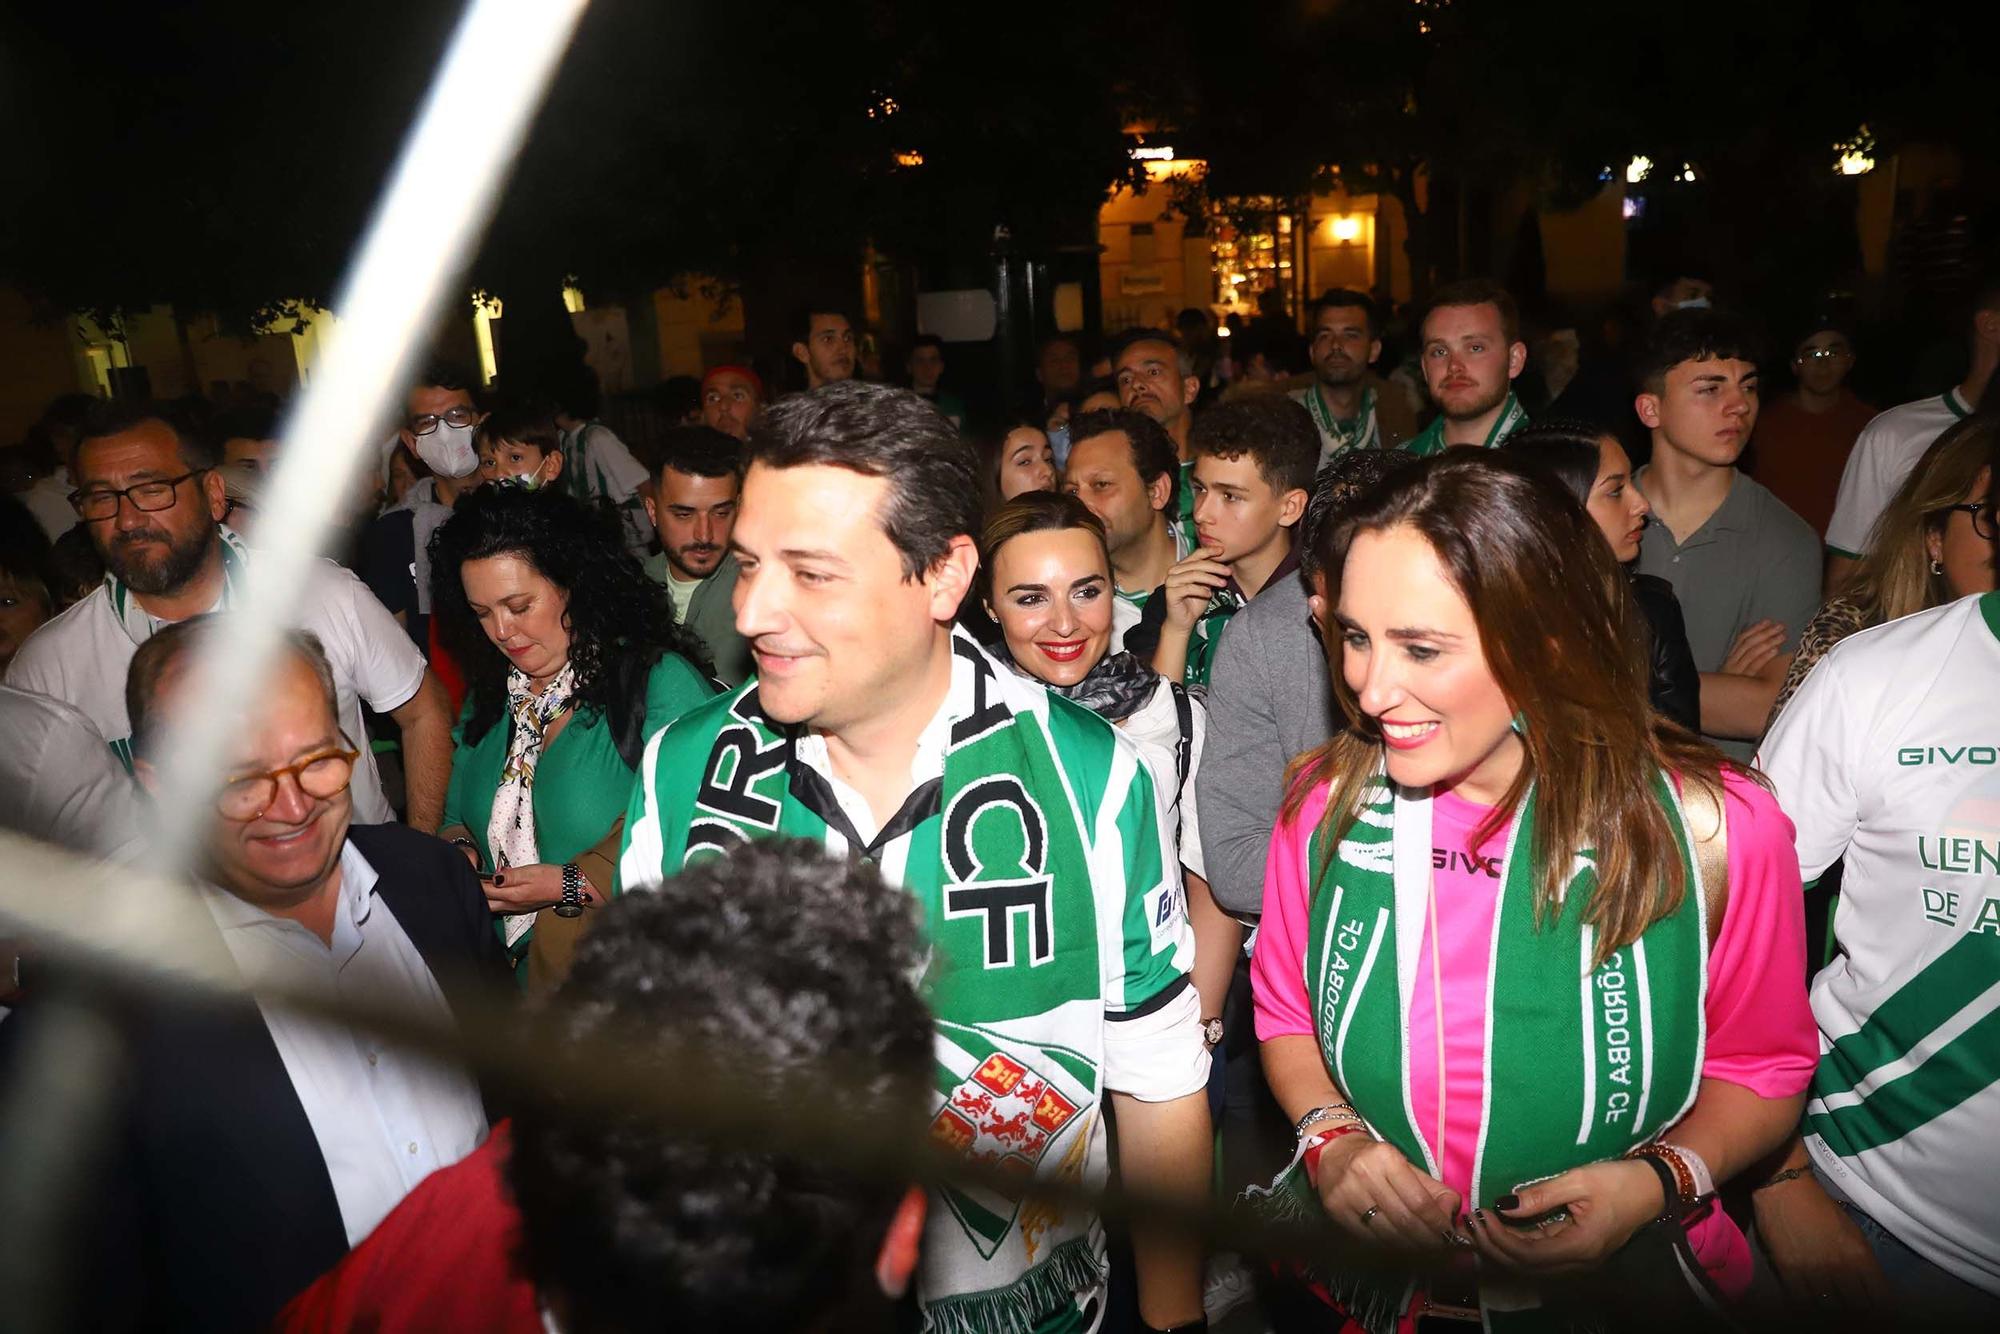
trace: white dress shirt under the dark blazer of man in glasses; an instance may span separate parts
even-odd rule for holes
[[[396,914],[376,896],[376,870],[340,850],[340,906],[332,946],[288,918],[202,886],[244,982],[324,992],[336,1000],[400,1004],[412,1018],[450,1020],[444,992]],[[370,1032],[310,1020],[258,1002],[334,1182],[354,1246],[410,1190],[486,1138],[472,1078],[388,1046]]]

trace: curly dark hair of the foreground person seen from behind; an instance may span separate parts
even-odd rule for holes
[[[548,1018],[558,1042],[634,1042],[640,1078],[684,1078],[680,1042],[750,1080],[834,1068],[828,1098],[916,1142],[932,1068],[916,958],[912,900],[874,866],[766,840],[608,904]],[[900,1182],[676,1138],[644,1112],[572,1106],[560,1082],[514,1116],[508,1172],[520,1264],[570,1330],[892,1324],[872,1270]]]

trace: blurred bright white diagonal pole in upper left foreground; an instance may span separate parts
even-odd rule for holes
[[[306,588],[342,498],[396,416],[588,0],[472,0],[336,298],[340,328],[288,414],[248,596],[162,748],[160,860],[188,866],[226,738]],[[348,738],[366,746],[368,738]]]

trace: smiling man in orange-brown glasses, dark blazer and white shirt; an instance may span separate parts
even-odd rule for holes
[[[132,658],[134,770],[148,792],[222,620],[168,626]],[[304,990],[444,1028],[490,1022],[512,980],[472,868],[428,834],[352,824],[358,738],[314,636],[286,636],[226,726],[196,902],[162,948],[234,968],[252,996],[114,1014],[126,1042],[102,1142],[116,1148],[78,1200],[78,1328],[264,1328],[486,1138],[480,1088],[456,1062],[260,994]],[[0,1044],[30,1050],[38,1024],[30,998]]]

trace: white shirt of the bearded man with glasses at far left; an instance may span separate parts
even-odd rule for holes
[[[256,554],[250,552],[248,560],[254,562]],[[218,602],[210,610],[220,606]],[[142,638],[150,638],[162,624],[166,622],[152,620]],[[362,700],[378,714],[402,708],[424,684],[424,654],[368,586],[332,560],[314,562],[292,626],[310,630],[326,648],[326,660],[334,668],[340,728],[362,752],[354,764],[354,824],[388,824],[396,812],[382,796],[382,778],[362,722]],[[124,678],[138,644],[114,610],[106,582],[28,636],[8,664],[6,684],[72,704],[120,758],[130,760],[132,720],[124,708]]]

